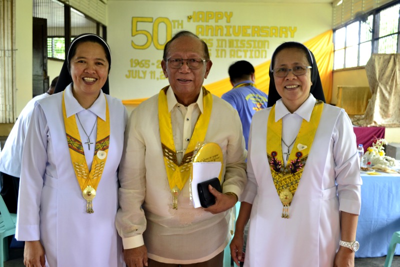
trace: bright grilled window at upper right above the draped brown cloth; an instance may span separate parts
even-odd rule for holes
[[[399,14],[400,4],[391,5],[334,30],[333,70],[365,66],[372,53],[400,53]]]

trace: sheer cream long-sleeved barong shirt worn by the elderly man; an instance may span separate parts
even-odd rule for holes
[[[177,161],[190,141],[197,118],[203,113],[203,92],[188,107],[177,103],[171,88],[166,91],[171,113]],[[212,111],[205,142],[217,143],[223,153],[222,190],[240,196],[246,183],[246,150],[237,112],[212,96]],[[220,253],[231,238],[230,209],[211,214],[193,208],[189,181],[172,208],[172,194],[164,165],[158,126],[158,95],[132,111],[126,134],[119,180],[120,209],[116,226],[125,249],[146,245],[148,257],[165,263],[206,261]]]

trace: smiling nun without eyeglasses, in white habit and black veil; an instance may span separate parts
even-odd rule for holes
[[[110,66],[107,43],[79,35],[56,84],[62,92],[36,102],[22,153],[15,233],[25,241],[27,267],[124,265],[115,214],[127,112],[102,91]],[[72,82],[64,84],[65,77]]]

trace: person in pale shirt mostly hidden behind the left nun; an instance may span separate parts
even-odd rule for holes
[[[34,103],[53,94],[58,76],[50,84],[47,92],[35,96],[19,113],[0,154],[0,194],[10,213],[16,213],[18,202],[19,177],[21,176],[21,159],[26,130],[33,112]]]

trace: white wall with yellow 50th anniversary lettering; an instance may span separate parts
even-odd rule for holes
[[[109,0],[107,10],[107,42],[112,54],[110,91],[120,99],[150,97],[167,85],[159,68],[162,50],[157,49],[154,43],[163,45],[168,31],[169,34],[180,30],[197,32],[208,44],[213,65],[204,82],[206,85],[226,78],[227,68],[232,62],[247,60],[254,66],[259,65],[270,59],[273,50],[280,43],[305,42],[331,29],[332,21],[330,4]],[[202,15],[205,17],[199,17]],[[133,23],[133,20],[138,22]],[[221,27],[224,30],[223,35],[201,35],[200,31],[205,27]],[[232,32],[226,31],[226,27],[244,27],[240,28],[244,32],[235,37]],[[262,37],[255,32],[260,27],[264,27]],[[274,29],[278,31],[277,35],[273,35]],[[138,34],[132,37],[134,31]],[[147,37],[145,31],[148,32]],[[148,40],[150,43],[147,47]],[[151,42],[153,40],[156,42]],[[246,48],[240,48],[237,44],[229,47],[229,40],[255,41],[265,45],[257,49],[262,57],[256,57],[255,54],[251,56],[249,53],[245,55]],[[143,46],[143,49],[133,48],[132,42],[135,46]],[[227,53],[226,56],[222,51]],[[127,78],[132,77],[132,73],[135,78]]]

